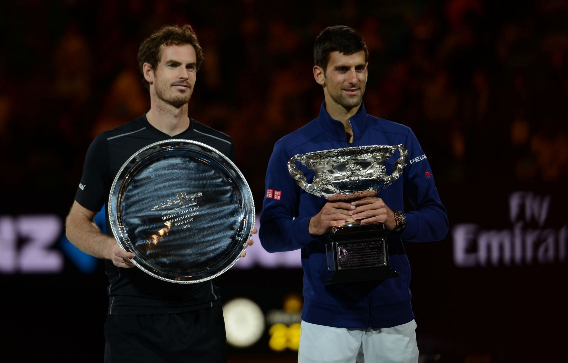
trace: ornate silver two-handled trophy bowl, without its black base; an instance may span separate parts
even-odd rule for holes
[[[391,175],[383,165],[399,151]],[[408,151],[402,144],[345,147],[298,154],[290,158],[288,171],[300,188],[328,201],[352,201],[373,197],[399,178],[406,166]],[[314,181],[296,167],[296,161],[314,171]]]

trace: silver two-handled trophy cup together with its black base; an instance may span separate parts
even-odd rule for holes
[[[390,175],[383,165],[399,151]],[[290,158],[288,171],[304,191],[324,197],[328,201],[346,201],[377,196],[381,189],[394,183],[406,166],[408,151],[404,145],[375,145],[314,151]],[[314,180],[296,167],[302,163],[314,171]],[[385,223],[361,225],[348,220],[333,233],[321,236],[325,242],[327,273],[324,284],[379,280],[398,277],[389,267],[389,251]]]

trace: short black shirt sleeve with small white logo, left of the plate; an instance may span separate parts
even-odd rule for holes
[[[81,183],[75,194],[75,200],[93,212],[101,210],[108,199],[109,162],[107,138],[104,134],[99,134],[87,150]]]

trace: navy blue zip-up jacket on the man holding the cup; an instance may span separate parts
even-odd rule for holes
[[[343,328],[393,327],[414,319],[410,303],[410,264],[402,240],[444,239],[448,233],[448,216],[434,185],[428,159],[410,128],[367,115],[364,104],[349,122],[353,143],[346,141],[343,124],[329,116],[324,102],[317,119],[276,142],[266,172],[268,192],[260,217],[259,237],[262,247],[269,252],[302,248],[302,320]],[[404,197],[415,208],[405,211],[407,223],[402,233],[391,233],[387,237],[389,263],[399,272],[399,277],[323,285],[320,275],[327,270],[325,246],[308,233],[308,224],[326,200],[296,184],[288,172],[289,159],[312,151],[398,143],[406,146],[408,163],[400,178],[382,189],[377,197],[392,210],[403,210]],[[387,174],[398,159],[396,155],[398,153],[385,162]],[[306,175],[308,183],[314,179],[314,172],[300,163],[296,166]]]

